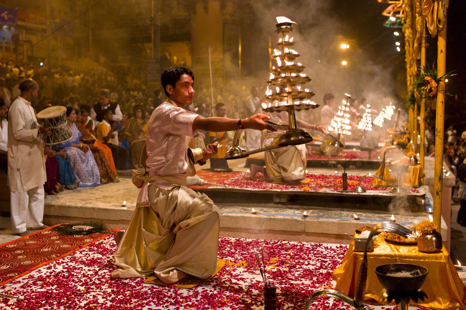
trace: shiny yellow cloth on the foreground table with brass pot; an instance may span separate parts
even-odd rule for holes
[[[411,263],[424,266],[429,270],[424,285],[421,287],[428,298],[424,302],[412,303],[413,306],[429,309],[453,310],[463,309],[466,288],[453,266],[452,260],[445,249],[440,253],[426,254],[418,251],[417,246],[400,246],[386,243],[380,235],[374,242],[374,252],[368,253],[368,273],[364,300],[381,303],[379,293],[383,289],[377,279],[374,269],[388,263]],[[363,253],[353,252],[353,242],[340,267],[333,271],[336,281],[335,289],[354,297],[357,275],[363,261]]]

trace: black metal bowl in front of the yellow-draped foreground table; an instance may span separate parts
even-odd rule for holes
[[[388,276],[387,274],[401,271],[419,270],[417,276]],[[391,292],[412,292],[421,288],[429,270],[425,267],[415,264],[391,263],[377,266],[375,269],[377,278],[382,286]]]

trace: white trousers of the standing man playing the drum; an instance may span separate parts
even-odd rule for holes
[[[44,217],[44,186],[24,190],[20,170],[16,172],[16,191],[10,192],[11,230],[14,234],[28,227],[41,227]]]

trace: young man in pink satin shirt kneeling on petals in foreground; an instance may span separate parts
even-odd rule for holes
[[[162,72],[162,86],[168,99],[151,115],[146,146],[141,155],[144,175],[133,170],[133,183],[141,189],[137,208],[118,244],[113,278],[149,276],[155,273],[167,284],[191,275],[212,276],[217,264],[219,210],[204,194],[186,187],[186,178],[195,175],[187,148],[198,129],[221,132],[239,128],[269,129],[256,114],[238,120],[204,118],[185,110],[192,104],[194,74],[184,67]],[[200,165],[217,153],[217,144],[204,148]]]

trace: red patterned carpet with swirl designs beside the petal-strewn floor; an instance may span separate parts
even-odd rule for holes
[[[55,226],[0,245],[0,285],[111,235],[61,236]]]

